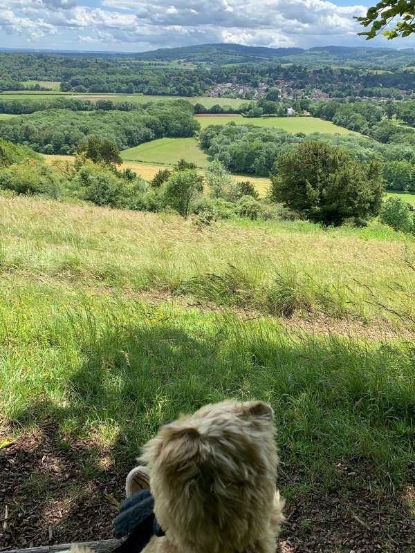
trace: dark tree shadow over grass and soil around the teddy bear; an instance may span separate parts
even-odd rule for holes
[[[321,460],[321,451],[337,438],[336,433],[353,430],[347,424],[341,431],[330,427],[330,409],[344,407],[344,420],[350,411],[353,417],[358,413],[351,421],[359,421],[365,416],[369,420],[366,413],[371,406],[376,424],[383,424],[385,431],[388,418],[392,424],[404,417],[406,396],[398,387],[392,394],[385,370],[389,350],[382,353],[384,357],[365,350],[365,370],[358,375],[358,352],[335,341],[283,343],[259,332],[254,339],[249,332],[238,331],[239,342],[231,341],[223,349],[220,328],[209,333],[192,326],[187,331],[174,321],[151,317],[148,324],[141,319],[140,324],[113,321],[99,331],[93,324],[77,328],[84,361],[65,383],[67,401],[56,405],[42,400],[16,414],[23,427],[38,421],[40,433],[34,441],[23,438],[6,451],[11,466],[24,474],[12,476],[7,487],[13,517],[5,546],[111,537],[116,509],[109,496],[122,498],[124,478],[140,445],[182,411],[229,396],[257,396],[275,406],[286,463],[279,487],[289,497],[284,538],[289,538],[293,551],[331,551],[333,543],[337,547],[349,542],[351,548],[351,540],[360,538],[389,547],[393,540],[402,543],[403,533],[410,537],[409,508],[391,497],[386,501],[384,491],[376,489],[373,464],[364,456],[349,455],[344,466],[334,467],[335,485],[330,489],[321,489],[320,474],[312,474],[317,464],[307,466],[312,454]],[[370,370],[377,365],[385,372],[385,383],[380,372],[370,380]],[[322,389],[326,397],[318,395]],[[339,418],[333,424],[340,422]],[[348,439],[353,442],[353,436]],[[304,485],[308,487],[302,489]],[[389,517],[389,523],[374,529],[379,516]],[[348,524],[339,527],[333,520]],[[333,528],[335,538],[325,541]],[[405,551],[405,543],[401,550]]]

